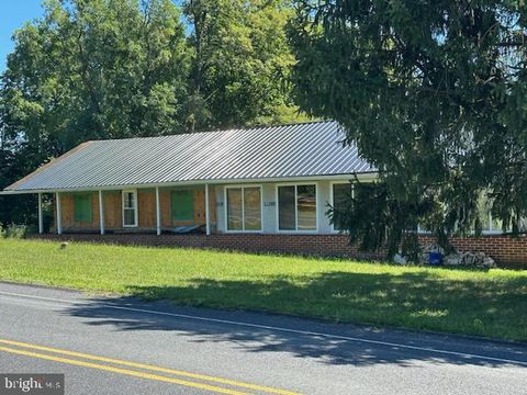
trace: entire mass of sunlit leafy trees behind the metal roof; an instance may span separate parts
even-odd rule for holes
[[[300,119],[288,1],[48,0],[0,80],[0,188],[88,139]],[[184,12],[184,15],[183,15]],[[34,196],[0,198],[2,222]]]

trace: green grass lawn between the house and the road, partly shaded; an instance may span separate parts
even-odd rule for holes
[[[527,271],[2,239],[0,279],[527,340]]]

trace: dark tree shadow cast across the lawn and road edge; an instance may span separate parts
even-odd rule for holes
[[[109,308],[109,305],[134,306],[138,303],[137,298],[164,300],[178,305],[267,311],[318,317],[333,321],[391,325],[495,338],[527,339],[527,281],[525,279],[457,281],[440,279],[429,272],[400,275],[327,272],[300,281],[298,278],[294,280],[271,278],[267,281],[255,282],[194,279],[187,286],[130,286],[128,291],[132,296],[92,300],[86,305],[72,307],[67,314],[92,318],[88,324],[110,325],[117,330],[171,330],[178,336],[189,336],[190,341],[229,341],[248,352],[290,352],[295,357],[313,358],[330,364],[396,363],[406,365],[415,360],[485,365],[500,365],[501,362],[493,361],[491,363],[484,360],[478,361],[427,351],[408,351],[407,357],[404,357],[404,353],[375,345],[356,343],[335,338],[321,339],[316,336],[299,336],[257,327],[238,327],[141,314]],[[161,305],[156,304],[155,306]],[[144,304],[142,306],[145,308]],[[178,313],[177,309],[176,313]],[[227,313],[226,319],[229,319],[228,314],[231,313]],[[264,325],[280,326],[273,324],[276,319],[285,319],[272,316],[268,318],[269,320],[264,319]],[[316,331],[313,327],[324,328],[327,325],[322,321],[314,324],[301,321],[299,328]],[[329,325],[329,327],[332,330],[335,328],[351,330],[351,336],[366,334],[381,340],[384,336],[382,330],[374,332],[365,328],[350,329],[350,327],[334,325]],[[368,334],[368,331],[372,332]],[[347,334],[349,336],[349,332]],[[402,335],[400,334],[400,336]],[[418,345],[422,341],[419,335],[412,332],[406,332],[402,338],[405,343],[410,345],[413,345],[414,341]],[[459,351],[451,342],[460,341],[459,339],[451,340],[451,338],[446,339],[442,336],[433,338],[435,346],[429,346],[428,342],[426,347],[449,347],[453,351]],[[478,347],[481,345],[475,346],[475,350]],[[505,350],[506,346],[501,345],[500,349]],[[511,347],[506,351],[509,359],[512,353],[515,353],[518,359],[527,361],[526,347]]]

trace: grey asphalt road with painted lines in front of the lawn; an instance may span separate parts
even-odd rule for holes
[[[526,394],[527,345],[0,283],[0,372],[66,394]]]

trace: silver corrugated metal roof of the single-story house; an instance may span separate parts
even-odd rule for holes
[[[336,122],[81,144],[5,191],[265,181],[372,172]]]

